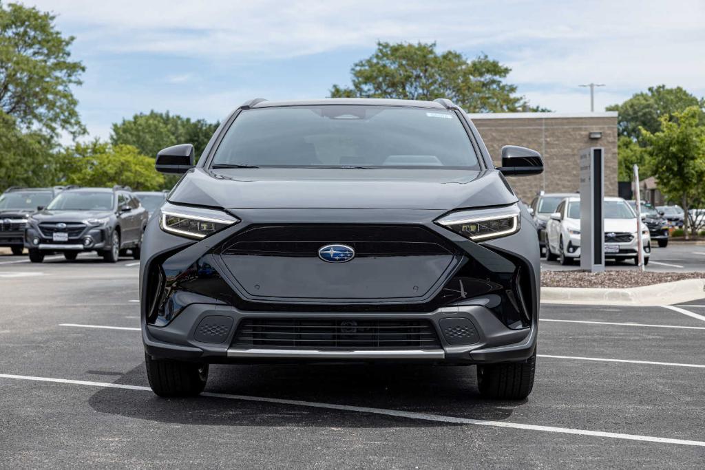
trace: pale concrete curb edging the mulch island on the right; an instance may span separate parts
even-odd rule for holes
[[[692,302],[705,297],[705,279],[683,279],[673,283],[627,289],[599,287],[541,287],[542,304],[658,306]]]

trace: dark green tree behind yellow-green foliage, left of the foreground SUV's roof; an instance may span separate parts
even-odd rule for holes
[[[196,156],[200,156],[218,125],[204,119],[183,118],[168,111],[149,111],[113,124],[110,141],[114,145],[134,145],[142,154],[152,158],[164,147],[193,144]]]

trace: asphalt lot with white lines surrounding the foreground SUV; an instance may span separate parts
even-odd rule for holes
[[[680,306],[693,315],[542,306],[524,402],[483,400],[474,368],[431,366],[212,366],[206,396],[164,400],[147,388],[137,262],[25,259],[0,256],[2,467],[705,461],[705,299]]]

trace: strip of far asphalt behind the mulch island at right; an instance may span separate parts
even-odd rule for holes
[[[554,271],[580,269],[580,260],[572,266],[560,266],[558,261],[541,259],[541,268]],[[625,260],[620,263],[607,261],[607,269],[635,269],[634,261]],[[651,247],[649,271],[705,271],[705,245],[691,245],[685,243],[670,243],[666,248]]]

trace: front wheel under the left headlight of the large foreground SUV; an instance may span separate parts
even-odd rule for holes
[[[208,364],[154,359],[147,353],[145,362],[149,386],[160,397],[194,397],[208,381]]]

